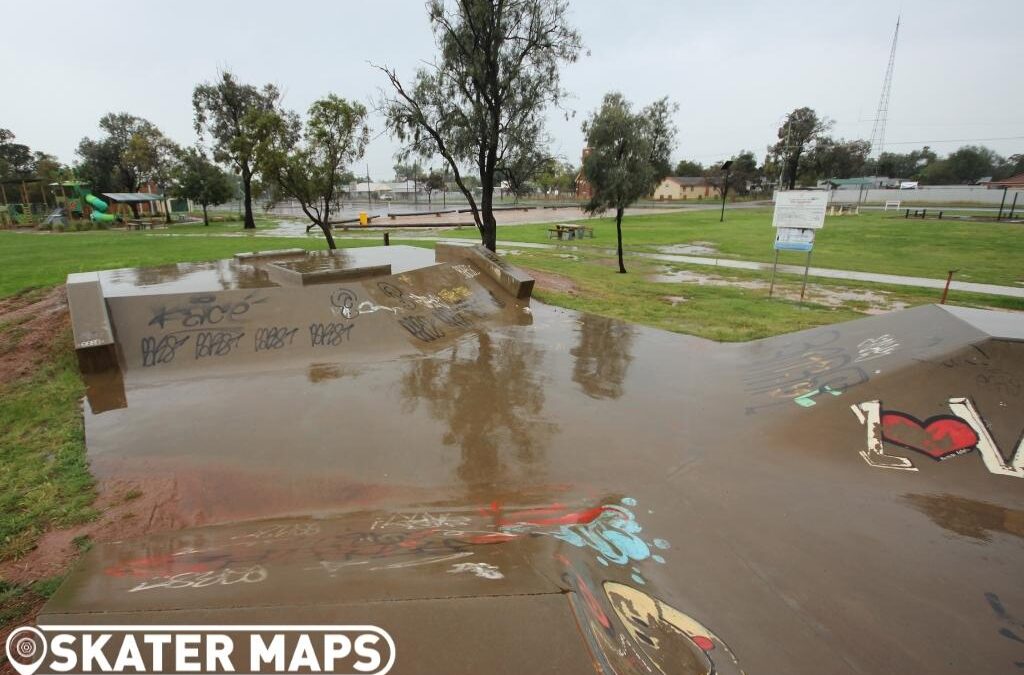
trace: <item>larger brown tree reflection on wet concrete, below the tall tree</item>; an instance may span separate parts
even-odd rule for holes
[[[402,376],[403,408],[422,402],[447,424],[442,442],[461,448],[457,475],[474,499],[496,487],[514,489],[544,459],[556,426],[544,418],[543,361],[529,343],[480,333],[475,344],[417,360]]]

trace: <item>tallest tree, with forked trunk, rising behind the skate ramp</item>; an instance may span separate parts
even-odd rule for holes
[[[566,0],[430,0],[437,46],[432,64],[403,82],[378,67],[392,94],[381,101],[407,157],[440,157],[466,196],[484,246],[495,250],[496,173],[544,139],[544,114],[558,106],[562,65],[582,50]],[[471,167],[467,172],[465,169]],[[467,182],[475,172],[479,202]]]

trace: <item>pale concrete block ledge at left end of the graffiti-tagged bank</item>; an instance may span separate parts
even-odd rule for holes
[[[94,271],[68,275],[67,288],[79,370],[96,373],[116,367],[114,329],[106,312],[99,275]]]

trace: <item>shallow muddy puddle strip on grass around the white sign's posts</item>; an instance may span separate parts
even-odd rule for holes
[[[699,286],[727,286],[750,291],[768,291],[768,282],[765,281],[726,279],[717,275],[672,270],[669,267],[663,267],[663,271],[659,273],[649,275],[647,280],[658,284],[697,284]],[[780,286],[776,284],[774,295],[786,300],[799,300],[800,287],[796,285]],[[905,302],[892,300],[888,293],[882,291],[867,291],[841,286],[821,286],[819,284],[807,285],[805,299],[809,302],[825,305],[826,307],[844,307],[851,302],[862,303],[866,304],[866,306],[859,306],[856,309],[867,314],[882,314],[887,311],[905,309],[908,306]],[[667,295],[665,296],[665,300],[675,306],[685,302],[686,298],[678,295]]]

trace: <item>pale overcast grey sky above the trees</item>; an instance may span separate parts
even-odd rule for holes
[[[418,0],[5,5],[0,127],[65,162],[108,112],[195,142],[191,90],[218,69],[273,82],[304,111],[328,92],[370,106],[385,82],[368,61],[409,78],[434,54]],[[887,150],[927,142],[946,153],[978,139],[1024,152],[1024,0],[575,0],[571,20],[590,54],[564,71],[577,115],[549,115],[555,151],[579,162],[580,123],[609,90],[679,103],[677,159],[708,164],[741,149],[760,159],[801,106],[834,119],[838,136],[867,138],[899,12]],[[364,164],[388,178],[396,145],[379,119],[372,125]]]

